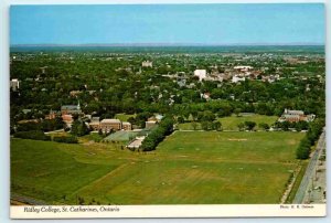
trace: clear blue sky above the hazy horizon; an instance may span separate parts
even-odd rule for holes
[[[14,44],[324,44],[324,7],[13,6]]]

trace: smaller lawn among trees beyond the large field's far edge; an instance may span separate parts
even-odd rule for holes
[[[238,124],[245,121],[254,121],[256,123],[255,129],[260,130],[258,124],[265,123],[269,126],[277,120],[277,116],[265,116],[265,115],[247,115],[247,116],[239,116],[232,115],[229,117],[218,118],[222,123],[223,130],[238,130]],[[179,129],[181,130],[194,130],[191,123],[179,124]],[[196,130],[201,129],[201,125],[197,123]]]

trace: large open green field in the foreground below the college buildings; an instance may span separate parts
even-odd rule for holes
[[[47,203],[278,203],[300,132],[177,131],[150,153],[11,140],[12,192]]]

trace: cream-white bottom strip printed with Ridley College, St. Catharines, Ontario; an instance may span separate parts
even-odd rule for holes
[[[325,204],[33,205],[11,206],[12,219],[325,216]]]

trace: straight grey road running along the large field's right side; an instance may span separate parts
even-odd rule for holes
[[[323,148],[325,148],[325,128],[323,129],[323,132],[321,134],[317,144],[317,148],[312,153],[312,157],[310,158],[310,162],[307,167],[306,173],[302,178],[292,203],[305,203],[305,197],[307,197],[307,193],[310,193],[309,191],[311,191],[311,185],[314,181],[313,178],[316,177],[316,172],[318,169],[318,160],[322,153]]]

